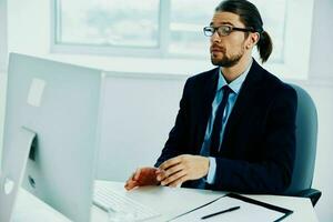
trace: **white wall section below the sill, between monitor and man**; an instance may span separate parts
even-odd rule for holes
[[[173,125],[184,75],[109,73],[98,178],[124,181],[153,165]]]

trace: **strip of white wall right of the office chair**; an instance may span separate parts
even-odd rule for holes
[[[320,221],[333,221],[333,1],[316,0],[312,31],[310,74],[305,87],[319,111],[319,143],[313,185],[323,191],[315,211]],[[317,84],[312,83],[320,80]],[[326,81],[325,81],[326,80]]]

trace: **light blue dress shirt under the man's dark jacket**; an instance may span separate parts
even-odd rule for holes
[[[228,103],[226,103],[226,107],[224,109],[224,113],[223,113],[223,117],[222,117],[222,129],[221,129],[221,132],[220,132],[220,143],[222,143],[226,121],[228,121],[229,115],[232,111],[232,108],[233,108],[233,105],[234,105],[234,103],[238,99],[241,87],[242,87],[242,84],[243,84],[243,82],[244,82],[244,80],[245,80],[245,78],[246,78],[246,75],[250,71],[252,62],[253,62],[253,60],[251,60],[251,62],[249,63],[246,70],[240,77],[238,77],[235,80],[233,80],[232,82],[229,83],[229,88],[232,90],[232,92],[229,95]],[[215,93],[215,98],[214,98],[213,103],[212,103],[212,114],[209,119],[206,130],[205,130],[205,134],[204,134],[204,140],[203,140],[201,151],[200,151],[201,155],[209,157],[209,159],[210,159],[210,169],[209,169],[208,176],[205,179],[205,182],[208,182],[209,184],[214,183],[215,171],[216,171],[216,160],[215,160],[215,158],[210,157],[211,133],[212,133],[212,130],[213,130],[215,112],[218,110],[218,107],[219,107],[220,102],[222,101],[222,98],[223,98],[222,87],[228,84],[228,82],[225,81],[225,79],[222,74],[221,67],[219,69],[219,73],[220,74],[219,74],[219,82],[218,82],[216,93]],[[221,144],[220,144],[220,147],[221,147]],[[204,185],[204,183],[202,183],[200,186],[203,188],[203,185]]]

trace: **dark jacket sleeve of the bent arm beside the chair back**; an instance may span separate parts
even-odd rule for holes
[[[295,158],[296,92],[287,87],[268,112],[261,162],[216,158],[213,190],[282,193],[287,189]]]

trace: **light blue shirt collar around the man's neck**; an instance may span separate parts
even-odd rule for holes
[[[245,69],[245,71],[240,74],[240,77],[238,77],[235,80],[233,80],[232,82],[229,83],[230,89],[234,92],[234,93],[239,93],[241,90],[241,87],[250,71],[250,68],[252,67],[253,63],[253,59],[251,59],[251,62],[249,63],[248,68]],[[223,74],[222,74],[222,69],[221,67],[219,67],[219,82],[218,82],[218,89],[216,91],[220,91],[222,89],[222,87],[224,87],[225,84],[228,84],[228,82],[225,81]]]

